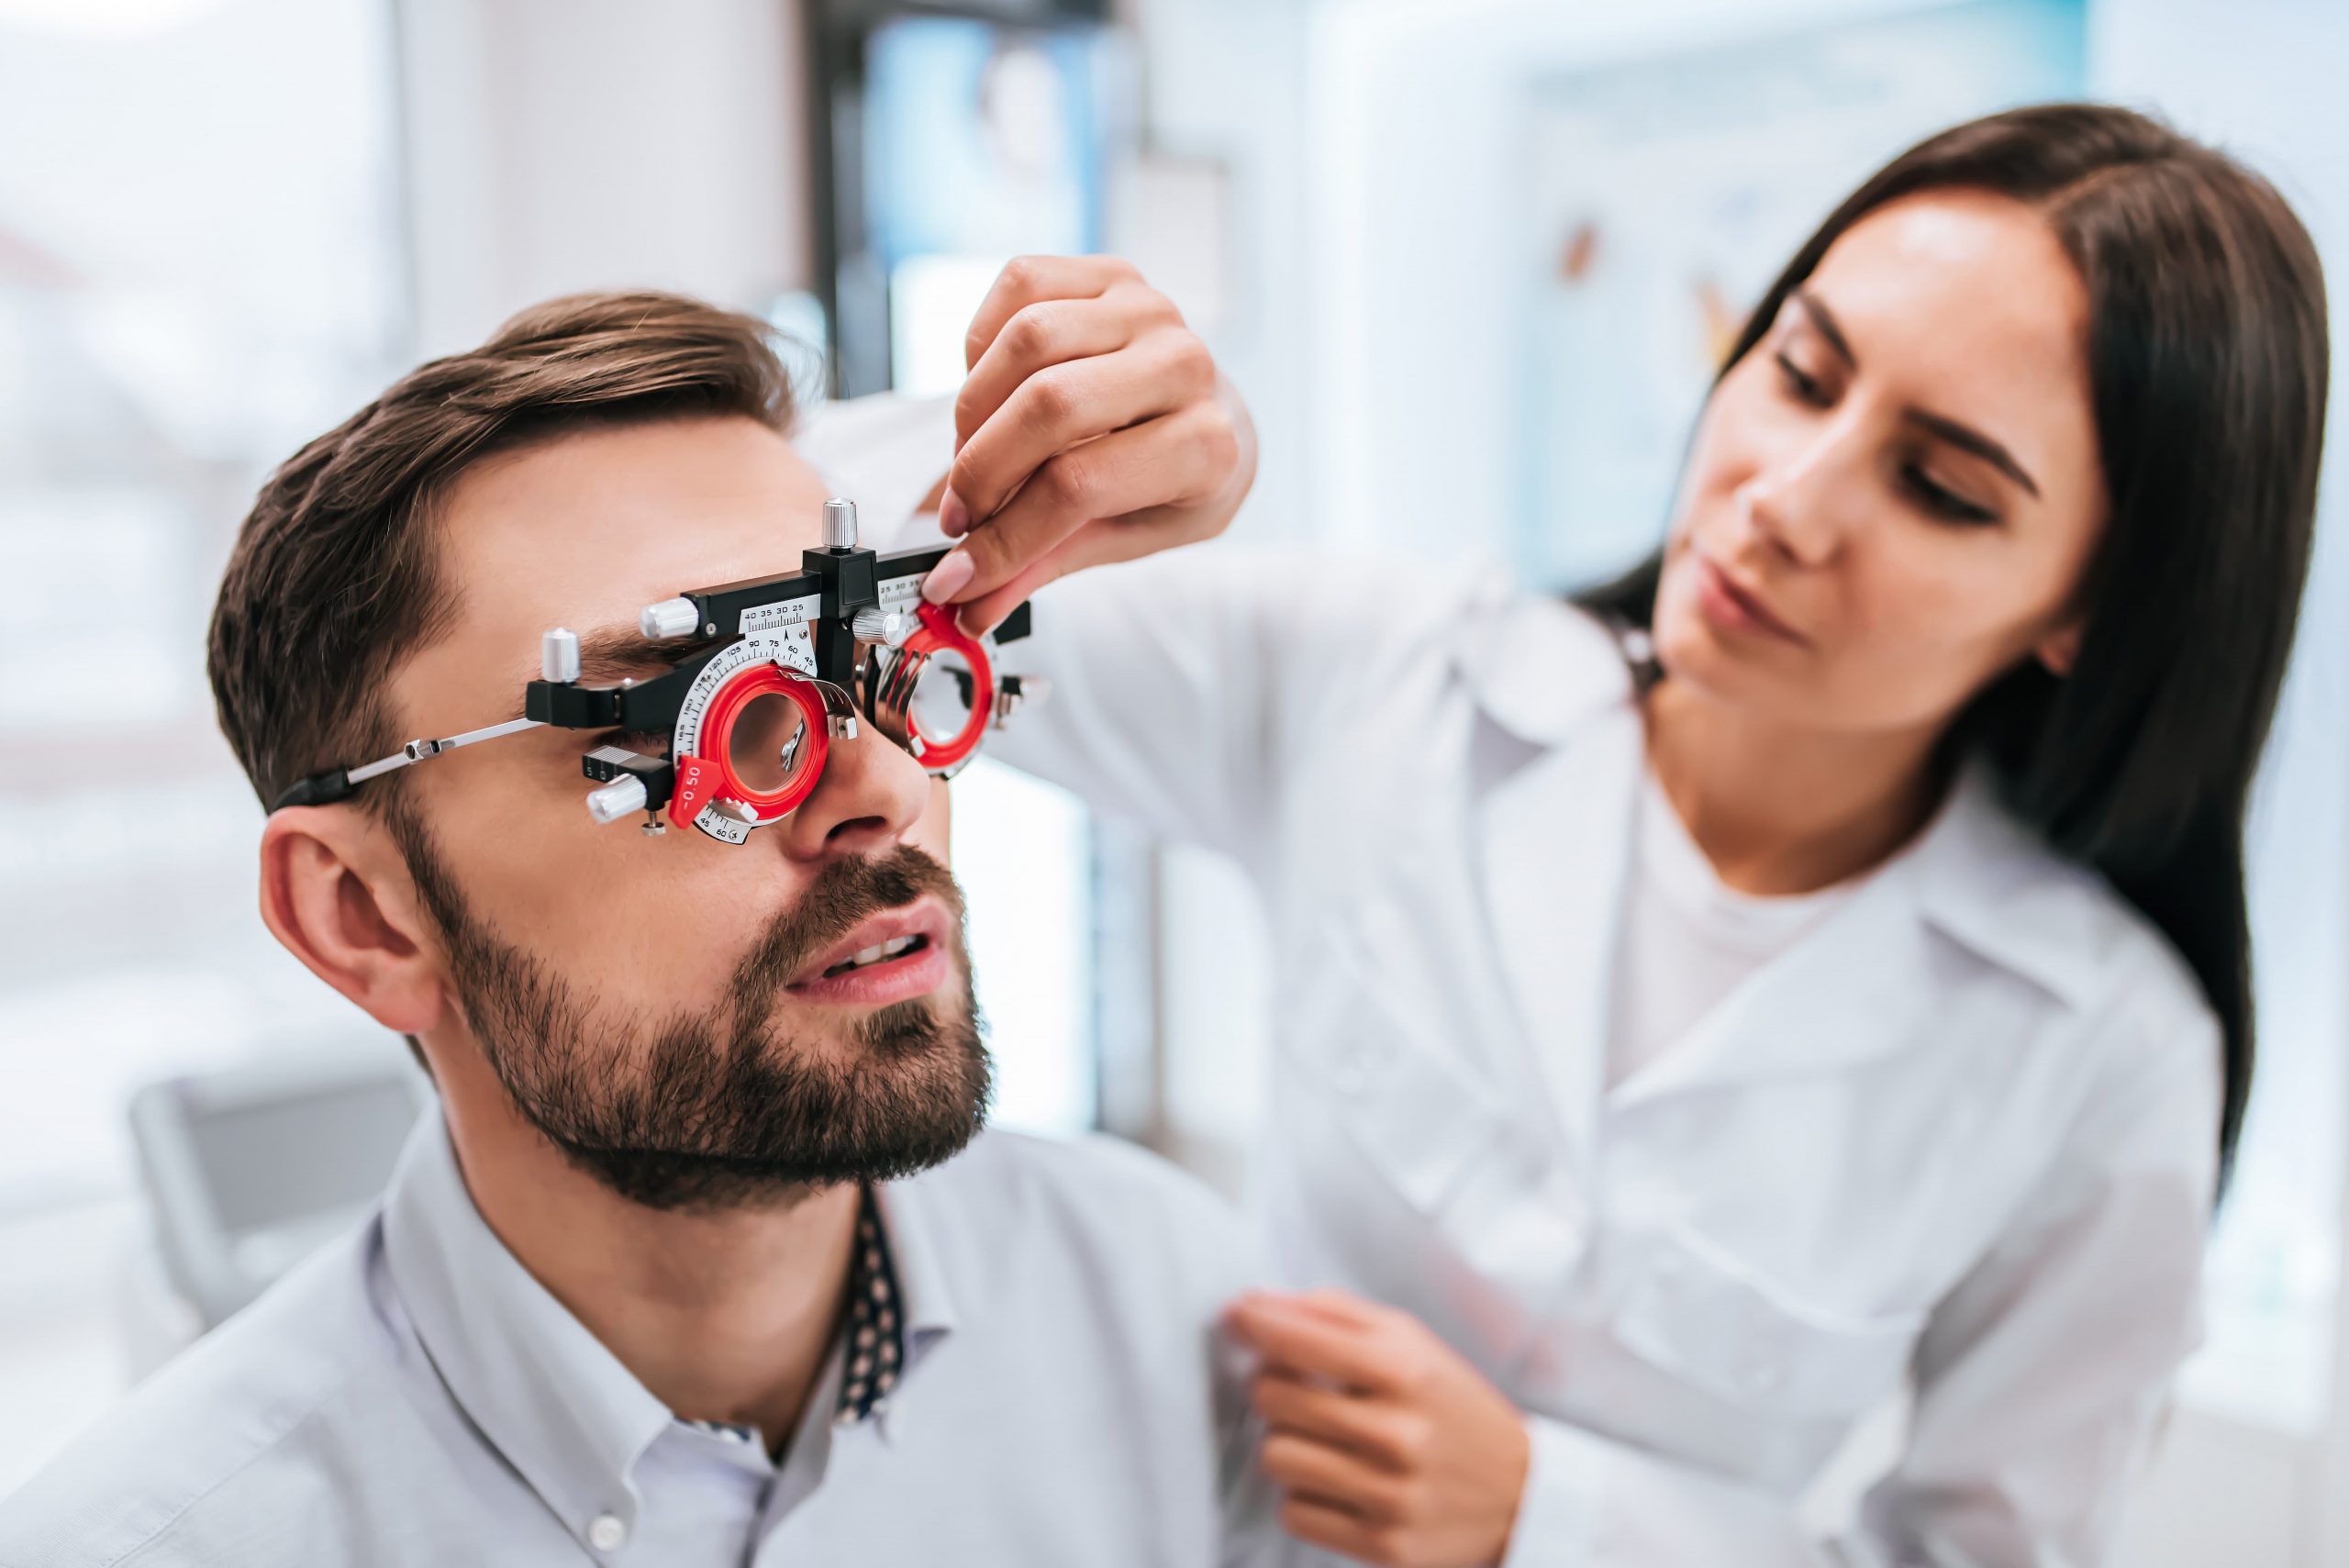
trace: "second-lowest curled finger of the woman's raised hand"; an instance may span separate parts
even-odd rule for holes
[[[1214,359],[1191,333],[1153,333],[1111,354],[1045,366],[1022,380],[987,425],[963,441],[947,469],[947,491],[968,507],[970,523],[980,526],[1055,453],[1205,404],[1212,394]]]

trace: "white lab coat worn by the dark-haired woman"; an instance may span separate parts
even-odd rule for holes
[[[1423,566],[1186,549],[1036,601],[991,753],[1236,857],[1273,925],[1257,1211],[1522,1411],[1510,1563],[2093,1563],[2199,1338],[2217,1023],[1968,777],[1609,1089],[1642,761],[1611,638]],[[1797,1500],[1914,1390],[1896,1469]]]

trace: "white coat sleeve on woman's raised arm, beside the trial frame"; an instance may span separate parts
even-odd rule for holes
[[[1428,669],[1489,592],[1478,570],[1219,545],[1090,568],[1036,594],[1008,662],[1050,697],[989,756],[1257,869],[1290,765],[1344,746],[1379,683]]]

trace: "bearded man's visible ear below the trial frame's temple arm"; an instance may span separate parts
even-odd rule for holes
[[[446,1007],[406,861],[381,824],[341,805],[289,805],[261,829],[261,920],[383,1028],[420,1035]]]

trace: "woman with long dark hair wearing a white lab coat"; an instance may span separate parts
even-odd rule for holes
[[[1231,516],[1245,415],[1130,270],[1019,263],[970,347],[933,596],[991,622]],[[1233,1326],[1299,1537],[2105,1554],[2250,1087],[2243,807],[2323,408],[2286,202],[2030,108],[1828,216],[1665,545],[1576,606],[1214,552],[1041,599],[1057,690],[1003,749],[1271,906],[1254,1197],[1318,1289]]]

